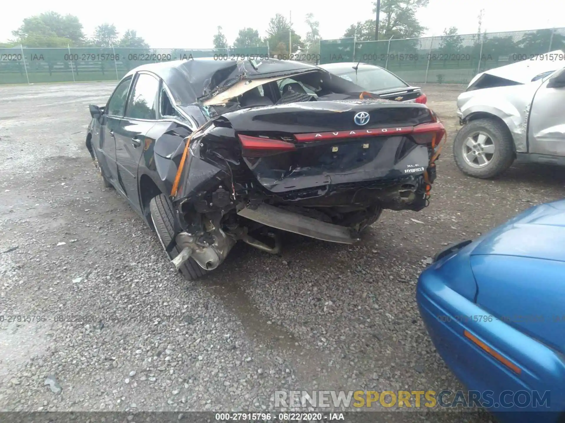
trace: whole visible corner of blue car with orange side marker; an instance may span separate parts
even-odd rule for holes
[[[481,397],[475,405],[501,422],[563,421],[565,200],[447,248],[416,298],[437,351]]]

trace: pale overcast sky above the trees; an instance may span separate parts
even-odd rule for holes
[[[6,0],[6,3],[8,0]],[[80,0],[26,0],[2,6],[0,42],[12,38],[11,31],[21,25],[24,17],[55,11],[79,17],[85,33],[91,35],[101,23],[113,23],[122,34],[137,30],[155,48],[210,48],[216,27],[220,25],[233,43],[239,29],[252,27],[264,36],[268,22],[276,13],[287,18],[292,12],[294,30],[304,36],[308,12],[320,22],[322,38],[339,38],[346,28],[359,20],[371,19],[371,1],[285,0],[177,1],[177,2],[88,2]],[[430,0],[429,6],[418,11],[420,22],[428,27],[425,36],[440,35],[444,28],[455,26],[460,34],[477,30],[477,16],[485,9],[483,28],[488,32],[560,27],[563,21],[563,0],[536,0],[520,3],[516,0]],[[22,7],[15,5],[23,5]],[[158,5],[158,6],[155,6]],[[163,10],[160,10],[163,7]]]

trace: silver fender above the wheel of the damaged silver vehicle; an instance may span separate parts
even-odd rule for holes
[[[540,85],[541,81],[534,81],[463,92],[457,99],[457,106],[465,120],[473,113],[488,113],[501,118],[512,134],[516,152],[526,153],[529,109]]]

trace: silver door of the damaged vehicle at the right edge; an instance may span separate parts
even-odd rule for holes
[[[565,68],[556,72],[565,72]],[[547,88],[542,83],[533,98],[528,124],[529,153],[565,156],[565,87]]]

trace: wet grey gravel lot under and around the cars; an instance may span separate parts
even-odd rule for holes
[[[114,86],[0,86],[2,411],[261,411],[280,389],[463,389],[418,314],[425,260],[563,197],[565,174],[547,166],[515,165],[494,181],[459,173],[451,140],[463,87],[428,85],[449,131],[429,208],[385,211],[354,246],[290,235],[275,256],[238,244],[187,283],[102,188],[86,151],[88,104]],[[45,321],[8,323],[13,315]],[[62,393],[44,385],[50,374]]]

